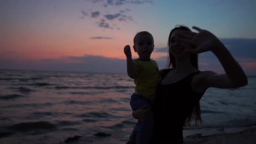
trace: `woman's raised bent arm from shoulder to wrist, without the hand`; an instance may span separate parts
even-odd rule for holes
[[[205,90],[210,87],[215,88],[239,88],[248,84],[245,72],[229,53],[226,47],[216,48],[213,53],[219,59],[225,74],[216,74],[215,72],[201,72],[195,78],[198,78],[198,85]]]

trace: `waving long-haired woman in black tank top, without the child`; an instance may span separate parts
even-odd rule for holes
[[[182,144],[182,130],[192,119],[201,123],[199,101],[210,88],[239,88],[247,85],[247,77],[221,41],[207,30],[178,26],[168,37],[168,68],[162,69],[162,80],[155,96],[155,126],[152,144]],[[211,51],[219,59],[225,74],[198,70],[198,54]],[[133,112],[145,121],[146,106]],[[134,143],[131,136],[130,143]]]

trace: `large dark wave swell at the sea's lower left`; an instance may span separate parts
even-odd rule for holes
[[[16,131],[31,131],[35,129],[42,129],[42,130],[56,129],[56,126],[46,121],[39,121],[39,122],[18,123],[18,124],[8,126],[8,128]]]

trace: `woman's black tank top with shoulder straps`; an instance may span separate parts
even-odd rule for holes
[[[163,71],[162,80],[171,70],[173,69]],[[196,93],[191,87],[192,78],[198,73],[193,72],[176,83],[157,85],[153,144],[183,141],[182,130],[185,120],[203,96],[203,93]]]

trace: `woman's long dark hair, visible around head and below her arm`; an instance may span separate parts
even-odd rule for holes
[[[175,61],[175,57],[173,56],[173,54],[171,53],[171,48],[170,48],[170,43],[171,43],[171,35],[175,30],[187,30],[190,31],[191,30],[186,27],[186,26],[182,26],[182,25],[176,25],[176,27],[174,29],[171,30],[169,37],[168,37],[168,62],[167,62],[167,66],[166,68],[176,68],[176,61]],[[190,62],[192,64],[192,66],[194,66],[195,68],[198,69],[198,54],[191,54],[190,55]],[[187,119],[185,120],[185,125],[189,125],[189,123],[191,122],[191,120],[195,120],[195,124],[197,125],[197,123],[201,123],[202,124],[202,120],[201,120],[201,109],[200,109],[200,103],[198,101],[198,103],[195,105],[193,111],[191,112],[191,115],[189,115],[187,117]]]

